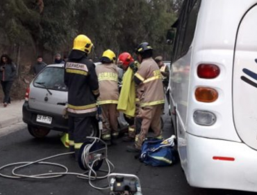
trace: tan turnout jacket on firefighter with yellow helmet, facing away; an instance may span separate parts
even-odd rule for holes
[[[96,68],[99,81],[99,104],[117,104],[119,100],[118,70],[114,63],[101,63]]]

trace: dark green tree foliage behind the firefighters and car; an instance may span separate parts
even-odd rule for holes
[[[71,47],[73,38],[84,33],[100,56],[105,49],[133,52],[142,41],[156,54],[167,52],[165,36],[181,0],[43,0],[43,7],[38,2],[1,0],[1,36],[10,44],[54,52]]]

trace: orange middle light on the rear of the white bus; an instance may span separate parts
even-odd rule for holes
[[[217,100],[219,94],[214,88],[208,87],[199,87],[195,90],[195,98],[199,102],[215,102]]]

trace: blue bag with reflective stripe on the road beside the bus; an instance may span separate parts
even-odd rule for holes
[[[141,148],[140,161],[151,166],[169,166],[176,160],[173,135],[169,139],[160,140],[148,138],[144,140]]]

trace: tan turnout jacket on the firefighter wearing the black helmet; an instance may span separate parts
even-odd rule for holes
[[[135,73],[140,107],[151,107],[165,103],[162,79],[160,68],[154,59],[143,59],[138,72]]]

